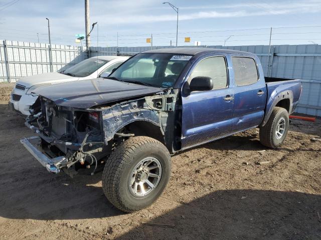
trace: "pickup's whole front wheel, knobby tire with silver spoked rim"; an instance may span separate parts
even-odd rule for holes
[[[102,174],[107,199],[122,211],[147,207],[165,189],[171,173],[171,155],[160,141],[135,136],[110,154]]]

